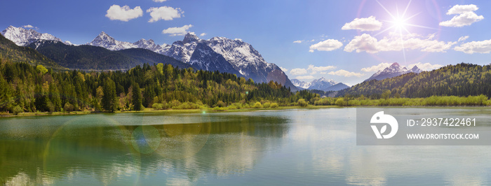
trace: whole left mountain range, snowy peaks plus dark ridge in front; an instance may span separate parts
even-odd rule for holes
[[[177,59],[194,67],[194,69],[234,73],[237,76],[252,78],[256,83],[267,83],[273,80],[290,87],[293,91],[297,90],[297,87],[291,83],[288,76],[276,64],[267,63],[252,45],[240,39],[214,37],[203,40],[194,34],[186,34],[182,41],[175,41],[172,45],[156,45],[152,39],[141,39],[135,43],[117,41],[102,31],[86,45],[72,45],[66,41],[62,42],[60,38],[51,34],[40,34],[34,29],[27,30],[22,27],[10,26],[1,34],[17,45],[29,45],[29,47],[40,51],[43,55],[67,68],[72,68],[69,66],[72,64],[77,66],[76,69],[105,69],[110,66],[113,66],[111,69],[129,69],[141,64],[142,61],[135,61],[135,57],[128,59],[128,54],[123,54],[126,56],[122,57],[121,52],[118,52],[142,48]],[[108,51],[91,47],[105,48]],[[53,48],[57,48],[57,50],[53,50]],[[94,51],[97,52],[87,53]],[[72,54],[72,57],[67,57],[66,52]],[[135,50],[132,53],[135,55]],[[105,64],[98,64],[98,62],[104,61],[103,59],[106,60]],[[155,61],[154,59],[146,61]],[[90,60],[95,60],[95,62]]]

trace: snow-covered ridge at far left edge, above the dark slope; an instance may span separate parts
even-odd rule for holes
[[[48,40],[48,41],[60,41],[60,38],[57,38],[51,34],[41,34],[34,29],[24,29],[22,27],[7,27],[4,31],[1,31],[1,34],[8,38],[8,40],[13,41],[16,45],[26,46],[36,40]]]

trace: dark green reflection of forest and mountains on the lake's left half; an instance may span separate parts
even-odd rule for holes
[[[143,116],[140,119],[145,121]],[[36,135],[11,135],[0,140],[0,184],[51,184],[92,176],[99,181],[94,184],[107,185],[162,170],[187,175],[192,182],[203,174],[241,173],[280,144],[289,129],[283,117],[258,115],[203,116],[197,123],[144,127],[82,127],[83,122],[43,127]],[[143,135],[135,133],[138,127]],[[144,148],[148,154],[138,152]]]

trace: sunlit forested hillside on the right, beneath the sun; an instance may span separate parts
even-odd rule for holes
[[[384,80],[370,80],[342,90],[338,96],[429,97],[491,96],[491,66],[476,64],[448,65],[433,71],[406,73]]]

